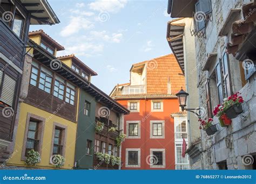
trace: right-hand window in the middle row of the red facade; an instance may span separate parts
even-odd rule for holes
[[[165,121],[161,121],[161,120],[150,121],[150,138],[151,139],[165,138]]]

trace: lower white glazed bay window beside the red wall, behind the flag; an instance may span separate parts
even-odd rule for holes
[[[175,163],[176,163],[176,169],[181,170],[181,169],[189,169],[189,164],[188,164],[188,156],[187,154],[185,157],[182,157],[182,144],[176,144],[175,145]]]

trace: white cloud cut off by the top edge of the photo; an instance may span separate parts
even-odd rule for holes
[[[117,13],[120,9],[123,9],[126,5],[127,0],[96,0],[95,2],[89,3],[89,8],[95,11],[107,11]]]

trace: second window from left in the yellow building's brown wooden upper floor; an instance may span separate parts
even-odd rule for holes
[[[50,70],[44,67],[41,67],[38,88],[44,90],[47,93],[51,93],[51,82],[52,82],[52,73],[50,72]]]

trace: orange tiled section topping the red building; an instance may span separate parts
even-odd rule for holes
[[[167,94],[167,83],[171,83],[171,94],[185,87],[185,77],[173,54],[147,61],[147,93]]]

